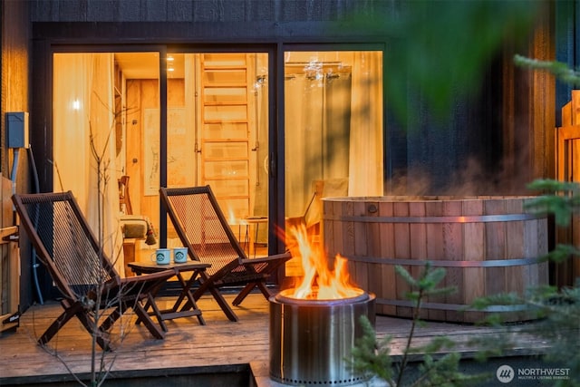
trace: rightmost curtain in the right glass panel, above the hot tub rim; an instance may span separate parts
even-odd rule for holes
[[[382,196],[382,53],[356,52],[353,61],[353,101],[349,196]]]

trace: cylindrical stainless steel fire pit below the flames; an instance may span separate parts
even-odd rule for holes
[[[362,337],[360,316],[374,326],[373,294],[338,300],[270,297],[270,377],[290,385],[345,386],[365,382],[345,359]]]

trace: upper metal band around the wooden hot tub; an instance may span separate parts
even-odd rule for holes
[[[324,220],[342,220],[346,222],[365,223],[488,223],[517,222],[534,219],[543,218],[533,214],[472,215],[467,217],[355,217],[352,215],[324,214]]]

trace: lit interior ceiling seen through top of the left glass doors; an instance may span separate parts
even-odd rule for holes
[[[183,78],[183,54],[171,54],[174,58],[168,63],[168,78]],[[115,53],[115,62],[119,64],[126,79],[159,79],[160,53]]]

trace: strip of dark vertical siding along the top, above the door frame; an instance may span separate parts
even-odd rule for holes
[[[386,0],[35,0],[33,22],[298,22],[382,14]]]

